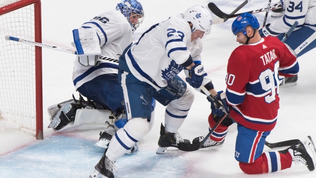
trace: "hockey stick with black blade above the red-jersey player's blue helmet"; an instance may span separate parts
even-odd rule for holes
[[[229,19],[229,18],[233,18],[233,17],[238,17],[241,14],[243,14],[243,13],[231,14],[231,15],[230,14],[226,14],[226,13],[222,12],[214,3],[208,3],[207,6],[208,6],[209,10],[212,11],[216,16],[218,16],[220,18],[223,18],[223,19]],[[282,8],[281,4],[275,4],[275,5],[270,7],[270,10],[280,9],[280,8]],[[251,14],[254,14],[254,13],[265,12],[265,11],[267,11],[267,8],[253,10],[253,11],[248,11],[248,12],[251,13]]]

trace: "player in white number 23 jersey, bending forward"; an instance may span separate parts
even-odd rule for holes
[[[203,85],[215,92],[203,65],[194,62],[190,55],[191,52],[199,53],[201,46],[192,46],[192,41],[207,35],[212,23],[208,10],[200,5],[193,6],[184,17],[174,15],[154,24],[138,42],[125,49],[119,59],[118,77],[124,92],[128,122],[112,138],[90,177],[99,174],[114,177],[115,161],[150,131],[152,97],[166,106],[165,125],[161,124],[156,153],[163,154],[168,147],[177,147],[179,142],[190,142],[183,140],[177,131],[191,108],[194,90],[187,87],[177,74],[186,68],[190,76],[186,80],[191,86],[199,88]]]

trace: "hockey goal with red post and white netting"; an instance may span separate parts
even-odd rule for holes
[[[0,130],[43,139],[42,49],[6,35],[42,42],[40,0],[0,0]]]

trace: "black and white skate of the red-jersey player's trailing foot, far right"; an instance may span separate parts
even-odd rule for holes
[[[299,162],[303,163],[308,170],[312,171],[315,169],[313,160],[311,156],[308,154],[304,144],[302,142],[297,142],[291,147],[279,151],[281,154],[286,154],[289,152],[292,155],[293,162],[297,165]]]

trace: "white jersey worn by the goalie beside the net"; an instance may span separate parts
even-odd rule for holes
[[[93,28],[97,32],[100,42],[101,54],[117,60],[100,60],[100,64],[95,67],[85,67],[74,61],[72,81],[77,90],[78,87],[91,81],[101,74],[118,72],[118,58],[122,55],[124,49],[133,40],[133,33],[127,19],[117,10],[108,11],[94,17],[92,20],[84,23],[81,28]]]

